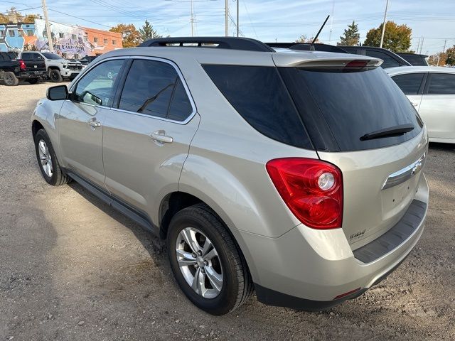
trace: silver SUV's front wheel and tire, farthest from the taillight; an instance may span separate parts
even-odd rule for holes
[[[41,175],[46,183],[58,186],[70,181],[68,175],[62,172],[49,136],[44,129],[38,130],[35,135],[35,151]]]

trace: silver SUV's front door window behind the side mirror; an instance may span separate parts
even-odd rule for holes
[[[114,92],[124,60],[108,60],[95,66],[77,83],[73,100],[104,107],[112,106]]]

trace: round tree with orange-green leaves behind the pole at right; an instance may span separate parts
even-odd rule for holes
[[[382,33],[382,23],[378,28],[371,28],[363,45],[379,46]],[[383,48],[394,52],[407,52],[411,47],[412,29],[406,25],[397,25],[393,21],[385,23]]]

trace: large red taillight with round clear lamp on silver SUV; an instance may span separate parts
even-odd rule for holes
[[[279,195],[306,226],[341,227],[343,178],[336,166],[311,158],[277,158],[266,168]]]

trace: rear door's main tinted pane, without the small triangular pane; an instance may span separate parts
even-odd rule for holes
[[[168,63],[134,60],[128,72],[119,108],[166,117],[178,75]]]

